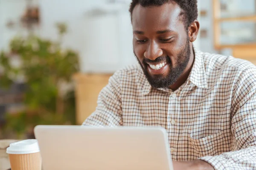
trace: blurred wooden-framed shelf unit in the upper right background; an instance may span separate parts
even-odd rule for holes
[[[234,57],[249,57],[255,63],[256,0],[212,0],[212,3],[215,48],[230,48]]]

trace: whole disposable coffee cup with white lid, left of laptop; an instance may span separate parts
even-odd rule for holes
[[[42,159],[36,139],[11,143],[6,153],[12,170],[41,170]]]

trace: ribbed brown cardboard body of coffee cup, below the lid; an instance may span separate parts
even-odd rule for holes
[[[12,170],[41,170],[40,152],[29,154],[9,154]]]

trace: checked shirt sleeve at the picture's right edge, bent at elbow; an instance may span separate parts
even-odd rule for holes
[[[256,68],[237,77],[231,107],[231,152],[199,158],[215,170],[256,170]]]

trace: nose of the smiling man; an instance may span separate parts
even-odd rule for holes
[[[163,51],[161,48],[159,48],[159,45],[156,42],[150,42],[148,44],[148,48],[144,52],[144,57],[155,60],[157,57],[160,57],[163,55]]]

